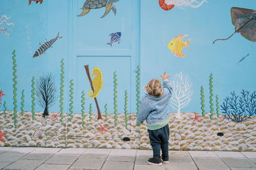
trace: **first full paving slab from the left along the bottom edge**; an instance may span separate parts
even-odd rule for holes
[[[26,170],[32,170],[36,167],[40,166],[44,160],[17,160],[16,162],[13,162],[13,164],[10,164],[9,166],[4,167],[4,169],[26,169]]]

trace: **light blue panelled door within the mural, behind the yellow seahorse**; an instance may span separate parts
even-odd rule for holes
[[[98,3],[100,2],[102,1]],[[76,129],[76,124],[79,123],[74,118],[71,125],[73,128],[70,129],[68,138],[70,141],[77,139],[78,143],[84,140],[80,143],[83,147],[106,147],[104,140],[99,142],[102,136],[93,134],[90,136],[90,132],[99,130],[99,124],[108,126],[106,130],[115,129],[111,130],[110,134],[116,142],[125,136],[131,138],[129,134],[132,134],[130,133],[131,119],[135,117],[132,117],[131,113],[136,113],[136,69],[139,67],[139,1],[113,3],[116,15],[113,9],[103,18],[100,17],[104,14],[105,7],[92,9],[86,15],[77,17],[83,11],[81,10],[83,4],[84,1],[81,0],[70,3],[70,13],[72,13],[70,25],[72,26],[69,28],[68,39],[70,52],[68,53],[69,92],[67,97],[69,99],[68,114],[82,113],[83,118],[81,114],[74,114],[74,117],[80,117],[77,120],[83,119],[84,126],[90,127],[84,127],[86,132],[79,134],[79,130]],[[119,41],[115,41],[115,36]],[[92,88],[84,67],[86,65],[89,67],[90,75],[93,74],[93,69],[100,70],[96,76],[91,77],[95,92],[100,89],[100,85],[97,87],[93,83],[102,76],[102,89],[95,97],[99,108],[95,99],[88,96],[88,91]],[[97,122],[98,112],[101,113],[102,120]],[[117,114],[116,120],[113,113]],[[126,130],[129,131],[124,130],[125,125],[120,124],[126,124]],[[87,140],[95,141],[90,143]],[[72,143],[73,141],[70,146]]]

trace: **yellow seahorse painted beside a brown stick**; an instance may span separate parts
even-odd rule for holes
[[[100,89],[102,88],[102,85],[103,85],[102,73],[101,73],[99,67],[93,67],[91,76],[95,76],[92,80],[92,86],[94,88],[94,92],[93,92],[93,90],[89,90],[88,96],[94,98],[99,94]]]

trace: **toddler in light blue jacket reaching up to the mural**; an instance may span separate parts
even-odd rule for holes
[[[169,99],[172,94],[169,75],[166,72],[163,78],[163,89],[161,82],[154,78],[148,82],[144,88],[147,89],[145,96],[140,102],[140,109],[136,118],[136,123],[141,124],[146,120],[148,126],[148,136],[153,149],[153,157],[148,159],[148,164],[161,166],[160,147],[162,150],[162,160],[165,164],[169,162],[168,141],[169,141]]]

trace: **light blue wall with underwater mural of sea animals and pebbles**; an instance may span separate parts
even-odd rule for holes
[[[151,149],[136,115],[166,71],[169,149],[256,151],[253,0],[0,4],[0,146]]]

